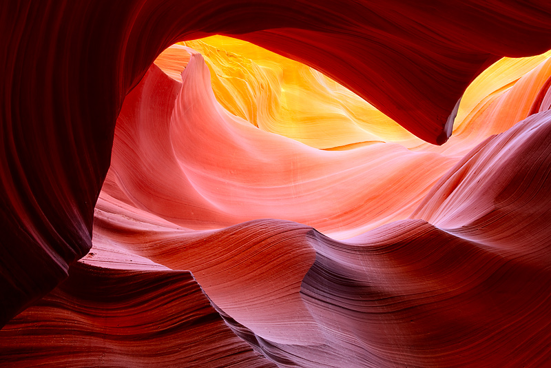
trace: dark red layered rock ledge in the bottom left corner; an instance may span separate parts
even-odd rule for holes
[[[185,271],[76,263],[0,336],[2,367],[275,367]]]

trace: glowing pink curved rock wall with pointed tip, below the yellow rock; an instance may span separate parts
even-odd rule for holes
[[[152,66],[127,96],[113,145],[113,180],[167,221],[212,229],[284,218],[351,236],[406,218],[457,161],[382,143],[324,152],[259,130],[221,108],[190,52],[182,83]]]

